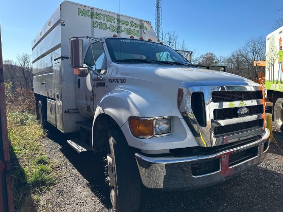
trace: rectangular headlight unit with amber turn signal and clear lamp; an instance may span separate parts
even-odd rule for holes
[[[131,116],[129,126],[132,134],[138,138],[166,136],[172,133],[171,118],[141,118]]]

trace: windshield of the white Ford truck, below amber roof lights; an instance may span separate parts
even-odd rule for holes
[[[116,63],[160,62],[191,64],[168,46],[134,39],[109,38],[106,40],[111,60]]]

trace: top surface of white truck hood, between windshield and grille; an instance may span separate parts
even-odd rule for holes
[[[120,76],[136,80],[144,79],[155,83],[170,83],[170,86],[179,86],[183,82],[191,82],[192,84],[198,82],[198,85],[204,86],[211,85],[211,83],[228,85],[232,82],[234,85],[255,84],[253,81],[237,75],[185,65],[115,64],[115,66],[119,67],[118,75]]]

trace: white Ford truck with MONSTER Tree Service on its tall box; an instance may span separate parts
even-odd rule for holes
[[[77,152],[104,153],[116,211],[138,209],[140,183],[201,188],[267,157],[263,87],[192,65],[148,21],[64,1],[32,60],[40,125],[80,132],[67,141]]]

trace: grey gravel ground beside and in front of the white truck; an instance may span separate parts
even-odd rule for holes
[[[283,135],[273,136],[283,150]],[[59,176],[57,185],[44,193],[37,211],[114,211],[109,188],[95,178],[98,158],[78,154],[69,147],[64,135],[50,130],[42,140],[44,152],[54,162]],[[262,164],[233,179],[207,188],[161,192],[142,187],[138,211],[282,211],[283,153],[271,144]]]

